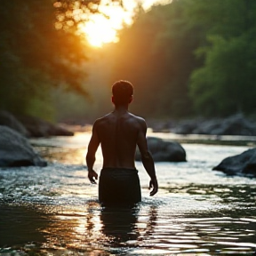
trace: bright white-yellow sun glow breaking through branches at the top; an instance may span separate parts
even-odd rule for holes
[[[66,12],[66,17],[72,16],[78,21],[77,33],[83,36],[93,47],[101,47],[103,44],[118,42],[118,31],[126,26],[131,26],[138,6],[145,12],[148,12],[153,5],[169,4],[172,0],[123,0],[120,3],[101,0],[99,5],[91,4],[97,12],[89,12],[82,8],[78,2],[75,2],[72,11]],[[58,7],[59,2],[55,3]],[[61,15],[57,16],[55,28],[63,28]],[[72,22],[70,21],[70,25]],[[68,22],[66,24],[68,26]],[[65,27],[64,27],[65,29]]]

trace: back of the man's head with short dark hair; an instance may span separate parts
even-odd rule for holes
[[[133,86],[130,82],[119,80],[112,86],[112,101],[116,106],[132,102]]]

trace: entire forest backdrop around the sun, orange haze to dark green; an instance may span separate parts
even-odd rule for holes
[[[124,79],[134,85],[132,112],[146,118],[255,115],[255,0],[172,0],[140,10],[118,43],[100,49],[76,24],[57,29],[53,5],[1,1],[0,109],[92,122],[112,108],[111,85]]]

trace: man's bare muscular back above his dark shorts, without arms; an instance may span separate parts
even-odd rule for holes
[[[140,133],[145,134],[144,119],[125,110],[115,110],[95,122],[103,155],[103,167],[134,169],[134,155]],[[141,146],[142,148],[142,146]]]

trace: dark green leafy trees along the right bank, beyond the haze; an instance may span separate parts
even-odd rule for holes
[[[190,84],[197,113],[204,116],[227,116],[237,111],[253,113],[256,109],[255,1],[216,0],[209,4],[197,0],[193,7],[189,11],[191,19],[207,31],[207,44],[196,50],[197,56],[204,59],[204,66],[193,72]]]

